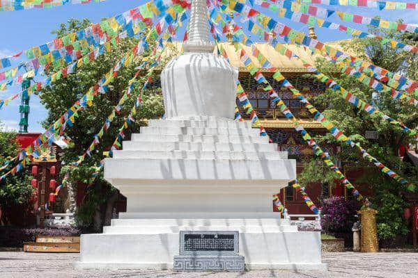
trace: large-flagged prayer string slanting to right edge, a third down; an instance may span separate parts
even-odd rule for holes
[[[240,3],[236,0],[222,0],[222,3],[228,5],[223,5],[222,9],[225,10],[229,8],[230,10],[235,10],[237,13],[240,13],[240,15],[248,17],[249,19],[255,17],[257,22],[259,22],[264,28],[268,28],[268,30],[274,31],[274,33],[280,35],[281,37],[287,37],[296,44],[303,44],[307,47],[314,47],[315,49],[318,49],[320,51],[325,51],[327,52],[327,54],[330,54],[330,56],[338,57],[339,60],[344,61],[345,63],[351,63],[355,61],[357,61],[357,63],[362,63],[362,65],[371,70],[373,74],[387,76],[387,79],[389,79],[388,85],[389,83],[391,83],[391,87],[395,86],[396,90],[406,90],[408,92],[413,92],[416,88],[418,88],[417,81],[408,79],[404,76],[401,76],[400,74],[394,74],[393,72],[389,72],[388,70],[385,70],[382,67],[378,67],[371,63],[365,62],[354,56],[344,54],[342,51],[337,51],[333,47],[325,45],[323,42],[320,42],[319,40],[309,38],[307,35],[304,35],[304,33],[295,31],[293,28],[286,26],[281,22],[277,22],[271,17],[268,17],[267,15],[263,15],[258,10],[251,8],[245,3]]]

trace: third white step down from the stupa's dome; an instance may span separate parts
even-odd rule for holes
[[[185,135],[185,134],[144,134],[133,133],[132,141],[153,142],[225,142],[225,143],[268,143],[267,136],[236,135]]]

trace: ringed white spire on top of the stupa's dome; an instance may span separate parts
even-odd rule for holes
[[[185,52],[212,52],[215,45],[209,39],[206,0],[192,0],[189,36],[183,45]]]

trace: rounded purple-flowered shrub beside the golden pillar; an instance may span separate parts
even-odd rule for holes
[[[323,201],[320,224],[326,234],[351,232],[357,221],[359,204],[343,197],[330,197]]]

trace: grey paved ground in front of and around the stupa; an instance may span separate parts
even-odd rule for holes
[[[323,262],[329,263],[329,271],[279,271],[257,270],[243,273],[226,272],[171,272],[155,270],[75,270],[72,263],[79,254],[36,254],[24,252],[0,252],[1,278],[413,278],[418,277],[418,253],[324,253]]]

